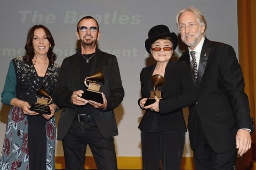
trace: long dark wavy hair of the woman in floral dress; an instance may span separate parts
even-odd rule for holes
[[[34,25],[32,28],[29,29],[28,36],[27,36],[27,42],[25,45],[26,54],[23,57],[23,60],[28,65],[33,64],[32,60],[35,56],[34,47],[33,47],[34,32],[36,29],[39,29],[39,28],[44,29],[46,37],[51,44],[51,46],[47,52],[47,57],[49,59],[49,64],[54,64],[55,60],[57,59],[57,55],[52,52],[53,47],[55,46],[54,40],[53,40],[50,30],[48,28],[46,28],[44,25]]]

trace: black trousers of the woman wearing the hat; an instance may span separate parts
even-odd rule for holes
[[[143,170],[180,170],[185,145],[185,133],[141,131]]]

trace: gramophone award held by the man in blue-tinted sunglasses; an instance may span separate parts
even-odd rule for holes
[[[84,91],[82,98],[103,104],[103,98],[100,92],[101,85],[97,84],[96,81],[102,82],[104,84],[104,75],[102,70],[85,78],[84,84],[88,89]],[[87,82],[89,82],[89,85],[87,84]]]

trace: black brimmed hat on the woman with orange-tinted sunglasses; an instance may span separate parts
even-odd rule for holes
[[[156,40],[167,37],[171,38],[171,42],[173,44],[172,48],[173,50],[175,50],[178,45],[177,35],[174,32],[170,32],[169,28],[166,25],[156,25],[152,27],[148,31],[148,39],[146,39],[145,41],[145,47],[147,52],[151,54],[150,47]]]

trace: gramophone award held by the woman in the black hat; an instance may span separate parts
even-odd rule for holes
[[[157,87],[161,87],[165,83],[165,79],[162,75],[160,74],[155,74],[151,77],[151,83],[154,86],[154,90],[150,91],[150,97],[147,99],[146,103],[144,106],[151,105],[155,103],[155,96],[159,99],[162,99],[162,91],[158,90]]]

